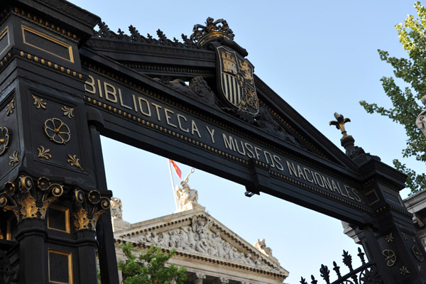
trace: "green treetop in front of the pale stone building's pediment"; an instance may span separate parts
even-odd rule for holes
[[[151,246],[136,258],[131,244],[127,243],[123,246],[123,252],[126,261],[119,261],[119,269],[123,272],[125,284],[169,284],[172,280],[182,284],[187,279],[186,268],[178,268],[173,263],[166,266],[176,253],[174,249],[170,253],[162,253],[160,248]]]

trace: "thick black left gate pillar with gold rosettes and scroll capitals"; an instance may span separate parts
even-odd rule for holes
[[[95,171],[79,48],[99,17],[66,1],[6,0],[0,14],[0,238],[11,280],[97,283],[94,231],[111,192]],[[102,283],[118,283],[105,262]]]

